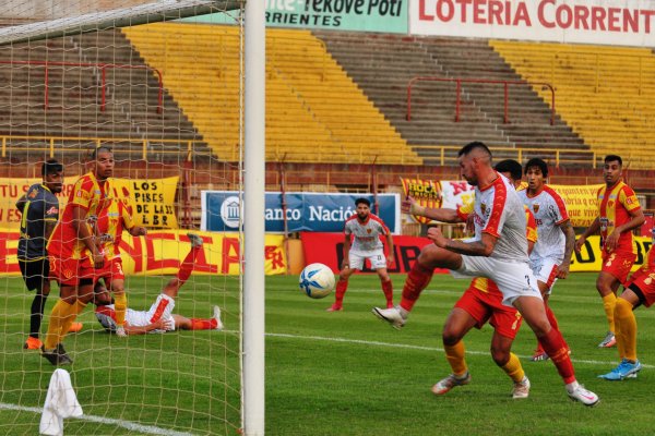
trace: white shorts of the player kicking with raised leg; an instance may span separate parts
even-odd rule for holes
[[[495,257],[462,256],[462,267],[451,271],[455,278],[487,277],[502,292],[502,304],[511,306],[519,296],[541,299],[537,280],[527,262],[503,262]]]

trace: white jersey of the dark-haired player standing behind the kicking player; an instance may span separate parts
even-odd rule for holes
[[[567,238],[559,225],[569,219],[564,201],[552,187],[547,185],[534,196],[528,195],[527,190],[521,191],[519,197],[534,214],[537,221],[539,239],[529,258],[532,261],[552,259],[555,263],[561,264],[564,259]]]

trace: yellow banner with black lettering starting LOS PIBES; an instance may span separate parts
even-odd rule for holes
[[[115,195],[128,197],[138,226],[177,229],[175,193],[179,177],[166,179],[111,179]]]

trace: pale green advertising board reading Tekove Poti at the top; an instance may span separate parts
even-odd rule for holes
[[[261,1],[261,0],[260,0]],[[409,0],[264,0],[266,26],[407,33]],[[238,12],[181,21],[235,24]]]

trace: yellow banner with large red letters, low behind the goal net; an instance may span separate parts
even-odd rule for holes
[[[193,274],[239,274],[239,235],[237,233],[198,232],[204,241],[195,258]],[[284,238],[267,234],[265,238],[264,266],[266,275],[285,274],[287,259]],[[0,274],[20,276],[16,251],[17,231],[0,231]],[[152,230],[146,237],[132,238],[123,233],[119,245],[123,270],[127,275],[154,276],[177,274],[190,250],[184,230]]]

